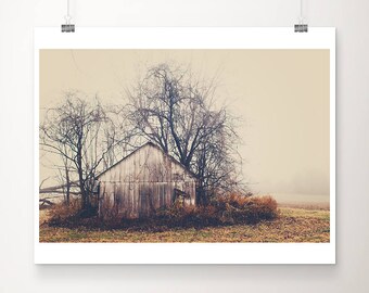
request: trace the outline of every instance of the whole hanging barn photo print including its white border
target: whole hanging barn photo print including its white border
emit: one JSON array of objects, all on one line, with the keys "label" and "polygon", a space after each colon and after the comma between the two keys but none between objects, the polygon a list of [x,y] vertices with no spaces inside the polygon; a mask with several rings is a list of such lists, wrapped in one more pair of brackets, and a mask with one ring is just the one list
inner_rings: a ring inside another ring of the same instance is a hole
[{"label": "whole hanging barn photo print including its white border", "polygon": [[35,29],[36,264],[335,264],[335,29]]}]

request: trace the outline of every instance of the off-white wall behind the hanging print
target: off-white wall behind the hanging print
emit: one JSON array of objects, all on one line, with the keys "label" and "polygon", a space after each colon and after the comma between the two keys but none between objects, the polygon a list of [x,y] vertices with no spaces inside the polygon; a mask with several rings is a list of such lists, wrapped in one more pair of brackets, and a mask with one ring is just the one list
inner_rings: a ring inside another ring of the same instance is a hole
[{"label": "off-white wall behind the hanging print", "polygon": [[[335,266],[35,266],[33,29],[66,0],[0,0],[0,292],[369,292],[367,0],[305,0],[336,27]],[[78,26],[292,26],[298,0],[71,0]]]}]

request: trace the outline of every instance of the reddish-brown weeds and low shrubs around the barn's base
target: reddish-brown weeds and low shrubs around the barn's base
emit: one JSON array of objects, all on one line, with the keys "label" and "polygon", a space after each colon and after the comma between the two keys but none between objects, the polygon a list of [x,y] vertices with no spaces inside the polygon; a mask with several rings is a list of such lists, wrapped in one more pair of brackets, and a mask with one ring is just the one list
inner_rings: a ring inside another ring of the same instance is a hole
[{"label": "reddish-brown weeds and low shrubs around the barn's base", "polygon": [[254,225],[278,217],[277,202],[271,196],[243,196],[229,194],[213,199],[206,206],[182,206],[174,204],[169,208],[156,211],[147,218],[101,219],[97,215],[86,217],[80,214],[78,201],[69,206],[60,204],[51,211],[48,222],[51,227],[90,229],[132,229],[162,231],[170,228],[203,228],[237,224]]}]

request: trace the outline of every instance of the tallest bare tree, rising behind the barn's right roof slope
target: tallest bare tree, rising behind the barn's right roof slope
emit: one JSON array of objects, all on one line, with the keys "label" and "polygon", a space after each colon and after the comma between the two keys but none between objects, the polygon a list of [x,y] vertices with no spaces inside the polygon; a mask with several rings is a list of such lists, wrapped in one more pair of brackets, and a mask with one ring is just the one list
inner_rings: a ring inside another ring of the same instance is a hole
[{"label": "tallest bare tree, rising behind the barn's right roof slope", "polygon": [[196,174],[200,203],[237,183],[234,117],[216,106],[215,90],[191,69],[160,64],[128,92],[133,130]]}]

